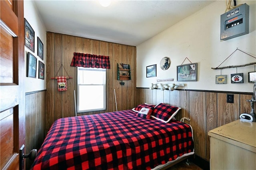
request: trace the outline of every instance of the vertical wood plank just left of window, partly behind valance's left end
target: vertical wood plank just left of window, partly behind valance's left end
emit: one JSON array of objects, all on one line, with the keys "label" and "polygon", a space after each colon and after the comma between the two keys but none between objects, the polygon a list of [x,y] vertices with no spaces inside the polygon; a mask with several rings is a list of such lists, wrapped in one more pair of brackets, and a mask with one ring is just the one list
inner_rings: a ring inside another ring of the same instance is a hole
[{"label": "vertical wood plank just left of window, partly behind valance's left end", "polygon": [[[73,59],[75,51],[75,37],[63,35],[62,36],[62,76],[74,77],[76,67],[71,67],[70,63]],[[75,89],[75,79],[67,80],[67,91],[62,91],[62,117],[72,117],[75,116],[75,106],[74,106],[74,89]]]}]

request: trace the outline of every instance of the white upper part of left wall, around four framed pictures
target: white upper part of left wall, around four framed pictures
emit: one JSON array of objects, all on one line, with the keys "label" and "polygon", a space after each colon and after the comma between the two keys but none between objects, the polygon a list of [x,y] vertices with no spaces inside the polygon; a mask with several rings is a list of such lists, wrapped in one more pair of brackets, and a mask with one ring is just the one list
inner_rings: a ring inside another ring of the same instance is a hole
[{"label": "white upper part of left wall, around four framed pictures", "polygon": [[[26,62],[28,52],[32,53],[37,58],[36,78],[26,77],[25,79],[25,92],[27,93],[46,89],[46,28],[40,17],[38,16],[34,1],[24,1],[24,18],[26,18],[26,20],[35,32],[34,52],[25,46],[25,68],[27,68]],[[39,37],[44,44],[43,60],[37,55],[37,37]],[[44,63],[44,79],[38,79],[38,61],[42,61],[42,63]]]}]

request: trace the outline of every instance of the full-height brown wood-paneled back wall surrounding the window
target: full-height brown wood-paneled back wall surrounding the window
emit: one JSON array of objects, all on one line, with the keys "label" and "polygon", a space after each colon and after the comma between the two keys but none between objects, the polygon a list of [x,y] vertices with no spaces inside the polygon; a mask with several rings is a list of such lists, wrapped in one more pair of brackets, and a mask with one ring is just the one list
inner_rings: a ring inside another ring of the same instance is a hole
[{"label": "full-height brown wood-paneled back wall surrounding the window", "polygon": [[[118,111],[135,107],[136,47],[47,32],[46,48],[46,130],[56,119],[75,116],[74,90],[77,92],[77,69],[70,67],[74,52],[110,57],[110,69],[107,69],[106,110],[78,113],[78,115],[116,111],[114,89]],[[124,81],[125,84],[122,86],[117,80],[117,63],[130,64],[131,67],[132,79]],[[73,79],[67,80],[67,91],[58,92],[57,81],[50,79],[55,76],[73,77]]]}]

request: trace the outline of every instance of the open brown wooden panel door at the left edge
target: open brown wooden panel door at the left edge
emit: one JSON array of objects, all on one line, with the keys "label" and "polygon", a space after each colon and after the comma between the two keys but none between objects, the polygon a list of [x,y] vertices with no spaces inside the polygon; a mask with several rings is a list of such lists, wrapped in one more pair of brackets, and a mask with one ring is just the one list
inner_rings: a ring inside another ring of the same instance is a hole
[{"label": "open brown wooden panel door at the left edge", "polygon": [[0,0],[0,169],[22,169],[25,144],[24,11],[22,0]]}]

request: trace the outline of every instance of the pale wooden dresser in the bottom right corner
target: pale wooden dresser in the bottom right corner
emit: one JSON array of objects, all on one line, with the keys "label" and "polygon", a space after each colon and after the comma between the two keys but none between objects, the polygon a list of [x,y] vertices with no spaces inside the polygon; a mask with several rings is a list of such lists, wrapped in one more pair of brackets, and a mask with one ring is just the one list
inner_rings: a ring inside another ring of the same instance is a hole
[{"label": "pale wooden dresser in the bottom right corner", "polygon": [[237,120],[208,135],[211,170],[256,170],[256,122]]}]

